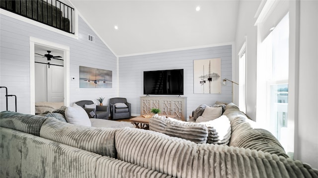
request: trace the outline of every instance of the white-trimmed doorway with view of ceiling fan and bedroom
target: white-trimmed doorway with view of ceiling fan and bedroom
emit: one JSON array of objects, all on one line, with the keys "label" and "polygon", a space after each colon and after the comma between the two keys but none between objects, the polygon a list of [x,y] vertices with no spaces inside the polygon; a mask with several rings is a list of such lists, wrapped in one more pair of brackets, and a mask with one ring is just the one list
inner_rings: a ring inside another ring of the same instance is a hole
[{"label": "white-trimmed doorway with view of ceiling fan and bedroom", "polygon": [[[48,60],[48,51],[61,58]],[[35,102],[70,105],[69,58],[69,47],[30,38],[30,114],[35,114]]]}]

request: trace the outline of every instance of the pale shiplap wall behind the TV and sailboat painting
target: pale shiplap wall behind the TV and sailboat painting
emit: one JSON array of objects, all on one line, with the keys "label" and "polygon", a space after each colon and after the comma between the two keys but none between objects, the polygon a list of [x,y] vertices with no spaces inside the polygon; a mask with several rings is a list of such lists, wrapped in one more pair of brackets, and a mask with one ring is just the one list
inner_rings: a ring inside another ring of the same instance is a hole
[{"label": "pale shiplap wall behind the TV and sailboat painting", "polygon": [[200,104],[213,105],[216,101],[231,102],[232,85],[230,83],[222,86],[221,94],[193,93],[193,60],[214,58],[221,58],[221,78],[232,79],[232,45],[120,57],[119,95],[126,97],[132,104],[132,114],[140,115],[140,96],[145,96],[143,71],[183,68],[183,96],[187,97],[187,118]]}]

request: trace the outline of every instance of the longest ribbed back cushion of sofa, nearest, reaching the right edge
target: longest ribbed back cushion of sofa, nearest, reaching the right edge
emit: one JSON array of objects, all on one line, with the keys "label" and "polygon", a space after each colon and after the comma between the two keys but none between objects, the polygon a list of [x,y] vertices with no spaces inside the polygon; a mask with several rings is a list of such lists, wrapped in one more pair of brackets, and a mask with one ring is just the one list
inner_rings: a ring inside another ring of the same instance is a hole
[{"label": "longest ribbed back cushion of sofa, nearest, reaching the right edge", "polygon": [[262,151],[193,142],[136,128],[115,136],[118,159],[177,178],[317,178],[300,161]]}]

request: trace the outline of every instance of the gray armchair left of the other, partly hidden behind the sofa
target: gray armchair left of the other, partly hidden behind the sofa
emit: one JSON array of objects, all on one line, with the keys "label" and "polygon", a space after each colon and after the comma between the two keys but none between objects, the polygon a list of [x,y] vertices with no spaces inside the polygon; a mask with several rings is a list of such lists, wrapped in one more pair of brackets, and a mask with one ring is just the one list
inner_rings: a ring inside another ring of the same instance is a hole
[{"label": "gray armchair left of the other, partly hidden behind the sofa", "polygon": [[85,108],[85,105],[94,104],[94,102],[89,100],[78,101],[76,104],[86,111],[89,118],[108,119],[109,117],[108,106],[96,105],[96,108]]}]

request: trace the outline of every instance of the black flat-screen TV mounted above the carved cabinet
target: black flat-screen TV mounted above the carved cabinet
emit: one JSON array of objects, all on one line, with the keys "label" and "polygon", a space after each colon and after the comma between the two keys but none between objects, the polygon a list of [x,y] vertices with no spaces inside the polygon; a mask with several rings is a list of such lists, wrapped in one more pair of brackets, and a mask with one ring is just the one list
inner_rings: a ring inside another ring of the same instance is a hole
[{"label": "black flat-screen TV mounted above the carved cabinet", "polygon": [[145,95],[183,95],[183,69],[144,71]]}]

